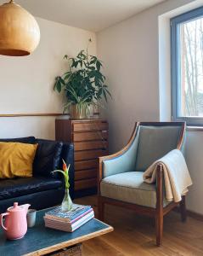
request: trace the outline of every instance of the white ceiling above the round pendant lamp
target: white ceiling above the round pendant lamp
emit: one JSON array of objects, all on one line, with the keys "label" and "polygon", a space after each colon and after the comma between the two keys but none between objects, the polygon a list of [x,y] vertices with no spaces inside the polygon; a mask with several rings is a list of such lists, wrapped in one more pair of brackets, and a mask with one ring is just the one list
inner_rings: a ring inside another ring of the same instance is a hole
[{"label": "white ceiling above the round pendant lamp", "polygon": [[[166,0],[15,0],[32,15],[98,32]],[[0,0],[0,3],[8,0]]]}]

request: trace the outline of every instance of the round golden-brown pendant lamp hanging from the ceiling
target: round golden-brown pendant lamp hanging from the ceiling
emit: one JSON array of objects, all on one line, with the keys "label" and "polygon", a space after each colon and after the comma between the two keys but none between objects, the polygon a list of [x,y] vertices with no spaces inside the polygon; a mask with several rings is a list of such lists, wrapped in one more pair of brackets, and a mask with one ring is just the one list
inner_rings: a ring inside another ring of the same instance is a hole
[{"label": "round golden-brown pendant lamp hanging from the ceiling", "polygon": [[30,13],[13,0],[0,6],[0,55],[30,55],[39,40],[39,26]]}]

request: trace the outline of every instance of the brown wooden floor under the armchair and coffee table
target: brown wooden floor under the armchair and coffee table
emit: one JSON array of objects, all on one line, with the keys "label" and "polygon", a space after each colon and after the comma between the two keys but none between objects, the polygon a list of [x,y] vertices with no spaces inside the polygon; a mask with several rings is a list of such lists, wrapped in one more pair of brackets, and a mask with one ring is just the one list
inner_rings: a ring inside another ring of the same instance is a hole
[{"label": "brown wooden floor under the armchair and coffee table", "polygon": [[[97,214],[95,196],[83,197],[77,203],[90,204]],[[203,256],[203,222],[188,218],[180,221],[177,212],[164,219],[163,246],[155,246],[155,222],[120,207],[107,206],[105,222],[114,231],[83,243],[84,256]]]}]

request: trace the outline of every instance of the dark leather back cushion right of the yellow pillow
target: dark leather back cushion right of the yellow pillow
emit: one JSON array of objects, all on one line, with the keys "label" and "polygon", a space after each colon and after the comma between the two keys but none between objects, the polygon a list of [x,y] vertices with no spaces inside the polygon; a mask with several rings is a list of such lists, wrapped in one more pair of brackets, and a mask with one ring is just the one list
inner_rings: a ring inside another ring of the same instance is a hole
[{"label": "dark leather back cushion right of the yellow pillow", "polygon": [[59,168],[63,143],[37,140],[38,148],[34,160],[34,175],[50,177],[50,172]]}]

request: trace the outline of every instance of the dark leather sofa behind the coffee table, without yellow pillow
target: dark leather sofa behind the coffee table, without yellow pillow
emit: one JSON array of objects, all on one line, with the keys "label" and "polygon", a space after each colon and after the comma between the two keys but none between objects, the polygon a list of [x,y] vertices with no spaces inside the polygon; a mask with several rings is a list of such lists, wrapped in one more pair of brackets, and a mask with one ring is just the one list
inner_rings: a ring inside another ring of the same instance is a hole
[{"label": "dark leather sofa behind the coffee table, without yellow pillow", "polygon": [[33,177],[16,177],[0,180],[0,213],[14,204],[29,203],[37,210],[53,207],[63,200],[64,179],[51,172],[62,168],[62,159],[70,164],[70,196],[74,193],[73,145],[35,137],[0,139],[0,142],[38,143],[33,163]]}]

